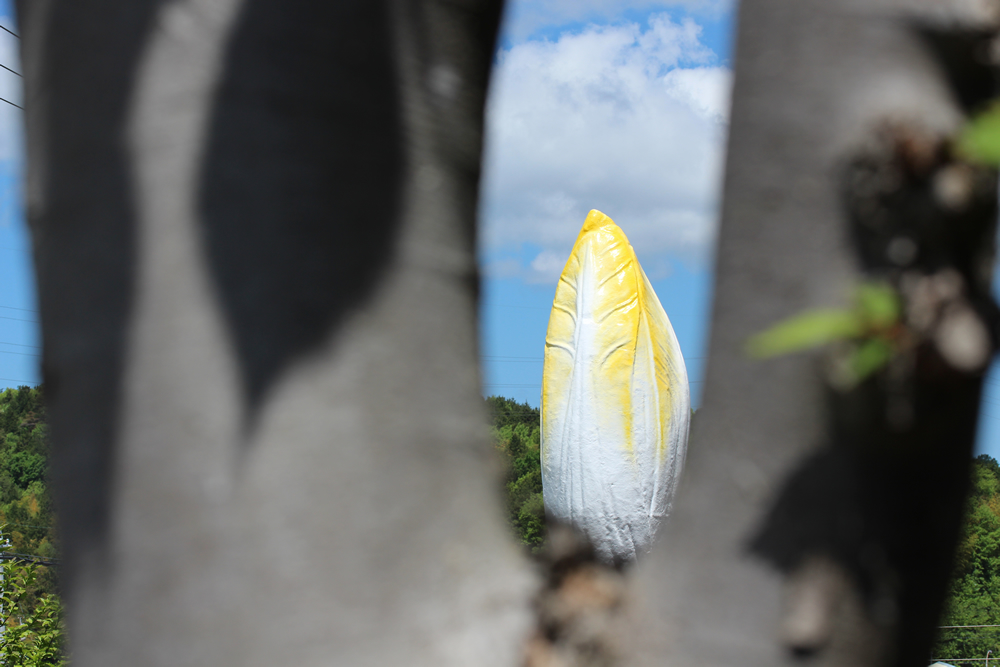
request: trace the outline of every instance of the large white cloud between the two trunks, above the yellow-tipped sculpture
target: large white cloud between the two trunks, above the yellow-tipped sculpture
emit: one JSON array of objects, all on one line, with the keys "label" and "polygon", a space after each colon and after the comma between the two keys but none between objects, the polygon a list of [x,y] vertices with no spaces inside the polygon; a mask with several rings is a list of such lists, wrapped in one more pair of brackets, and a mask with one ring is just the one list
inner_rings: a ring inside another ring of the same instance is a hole
[{"label": "large white cloud between the two trunks, above the yellow-tipped sculpture", "polygon": [[554,279],[591,208],[619,223],[644,265],[704,256],[730,86],[714,60],[696,23],[665,14],[502,52],[487,113],[487,274],[511,275],[491,256],[531,244],[541,251],[521,276]]}]

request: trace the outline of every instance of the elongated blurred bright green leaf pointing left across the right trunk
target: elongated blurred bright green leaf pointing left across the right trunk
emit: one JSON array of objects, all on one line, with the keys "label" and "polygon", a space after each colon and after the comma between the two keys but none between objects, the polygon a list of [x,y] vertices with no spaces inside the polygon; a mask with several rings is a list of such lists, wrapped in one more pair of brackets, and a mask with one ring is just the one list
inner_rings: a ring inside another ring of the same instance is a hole
[{"label": "elongated blurred bright green leaf pointing left across the right trunk", "polygon": [[854,338],[863,331],[861,318],[853,312],[811,310],[779,322],[751,338],[747,343],[747,353],[756,359],[767,359]]}]

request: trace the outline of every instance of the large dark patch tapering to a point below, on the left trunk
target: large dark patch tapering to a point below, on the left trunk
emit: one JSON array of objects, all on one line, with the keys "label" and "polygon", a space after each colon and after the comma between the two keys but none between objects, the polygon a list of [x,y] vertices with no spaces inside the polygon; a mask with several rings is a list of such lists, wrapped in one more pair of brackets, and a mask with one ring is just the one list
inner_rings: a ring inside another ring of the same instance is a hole
[{"label": "large dark patch tapering to a point below, on the left trunk", "polygon": [[386,3],[366,0],[248,0],[235,24],[200,210],[251,415],[393,256],[404,137],[390,29]]}]

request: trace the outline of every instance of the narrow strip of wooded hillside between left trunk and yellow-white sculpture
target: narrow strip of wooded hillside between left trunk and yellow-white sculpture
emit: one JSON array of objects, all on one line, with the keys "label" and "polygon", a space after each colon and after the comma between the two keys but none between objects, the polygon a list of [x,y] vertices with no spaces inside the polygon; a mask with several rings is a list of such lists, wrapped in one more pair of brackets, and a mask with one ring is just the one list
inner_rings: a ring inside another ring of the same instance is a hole
[{"label": "narrow strip of wooded hillside between left trunk and yellow-white sculpture", "polygon": [[502,396],[486,399],[490,436],[504,465],[504,491],[511,526],[533,552],[545,539],[542,503],[541,436],[538,408]]}]

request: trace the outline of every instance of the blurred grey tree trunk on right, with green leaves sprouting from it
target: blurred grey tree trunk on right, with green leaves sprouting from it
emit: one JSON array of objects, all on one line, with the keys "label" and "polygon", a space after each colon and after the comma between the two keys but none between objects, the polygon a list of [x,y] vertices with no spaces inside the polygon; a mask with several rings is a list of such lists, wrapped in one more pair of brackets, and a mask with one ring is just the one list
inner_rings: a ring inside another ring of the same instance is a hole
[{"label": "blurred grey tree trunk on right, with green leaves sprouting from it", "polygon": [[[996,176],[956,166],[948,141],[993,94],[997,9],[745,0],[739,12],[704,399],[622,650],[642,665],[813,653],[925,665],[995,321]],[[976,313],[962,335],[979,356],[964,370],[943,328],[912,323],[944,308],[945,327],[951,306],[906,291],[955,272],[954,307]],[[847,306],[866,280],[904,293],[916,341],[873,379],[837,391],[826,353],[747,355],[754,334]]]}]

